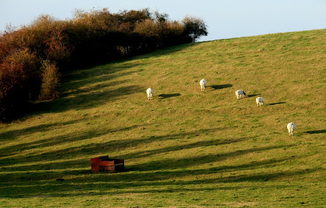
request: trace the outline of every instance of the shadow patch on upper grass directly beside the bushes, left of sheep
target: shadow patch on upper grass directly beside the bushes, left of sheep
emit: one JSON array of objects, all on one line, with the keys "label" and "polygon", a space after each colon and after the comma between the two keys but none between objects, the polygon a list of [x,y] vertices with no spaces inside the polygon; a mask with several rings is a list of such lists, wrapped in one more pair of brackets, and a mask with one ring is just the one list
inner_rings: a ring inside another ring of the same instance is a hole
[{"label": "shadow patch on upper grass directly beside the bushes, left of sheep", "polygon": [[[33,104],[28,116],[69,111],[70,109],[89,109],[105,104],[109,100],[118,99],[123,95],[140,92],[142,90],[140,86],[118,87],[118,84],[127,81],[116,82],[118,77],[133,74],[135,71],[128,69],[135,66],[139,66],[139,64],[119,62],[118,65],[112,63],[66,72],[62,76],[64,81],[61,97],[53,101]],[[114,89],[109,88],[112,86],[114,86]]]}]

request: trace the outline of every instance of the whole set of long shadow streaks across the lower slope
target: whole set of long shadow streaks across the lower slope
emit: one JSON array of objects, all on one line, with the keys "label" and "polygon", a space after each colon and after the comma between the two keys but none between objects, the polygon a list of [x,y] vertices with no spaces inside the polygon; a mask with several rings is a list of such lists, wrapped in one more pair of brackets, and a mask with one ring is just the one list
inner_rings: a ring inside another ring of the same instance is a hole
[{"label": "whole set of long shadow streaks across the lower slope", "polygon": [[[129,126],[126,128],[111,129],[114,131],[129,131],[140,126]],[[47,128],[47,126],[45,126]],[[142,193],[142,192],[167,192],[176,189],[177,192],[189,192],[200,190],[212,190],[212,187],[205,187],[212,183],[226,182],[247,182],[247,181],[266,181],[274,180],[282,177],[293,177],[296,175],[304,175],[313,173],[315,170],[274,170],[274,173],[247,173],[232,174],[237,170],[255,170],[258,168],[274,167],[279,163],[285,163],[288,160],[293,160],[291,156],[282,158],[272,158],[251,162],[244,162],[239,165],[222,165],[208,166],[208,168],[198,168],[193,170],[193,167],[200,167],[204,164],[220,162],[230,158],[242,158],[245,155],[273,150],[278,148],[288,148],[293,145],[269,145],[264,147],[243,148],[241,150],[230,150],[226,153],[193,155],[188,158],[159,158],[159,160],[143,163],[142,158],[151,157],[159,153],[170,153],[173,151],[184,151],[191,148],[205,146],[222,146],[230,143],[239,143],[251,138],[216,138],[208,141],[197,141],[191,143],[191,136],[200,136],[201,133],[223,131],[225,128],[209,128],[201,131],[189,131],[183,133],[167,134],[164,136],[147,136],[147,138],[135,138],[133,140],[116,140],[106,143],[91,143],[84,146],[66,148],[62,150],[50,150],[44,153],[40,149],[39,153],[33,155],[23,155],[11,157],[10,160],[2,158],[0,163],[3,164],[1,173],[1,196],[8,198],[21,197],[56,197],[56,196],[80,196],[80,195],[106,195],[113,193],[115,195],[125,193]],[[41,141],[43,145],[52,146],[56,143],[64,143],[77,141],[80,139],[93,138],[96,136],[108,133],[108,129],[101,132],[89,133],[74,133],[66,136],[57,136],[49,140]],[[91,174],[90,158],[85,160],[85,155],[96,155],[96,153],[110,153],[116,150],[126,150],[129,147],[150,145],[152,142],[177,140],[178,145],[164,148],[157,147],[155,150],[136,150],[133,153],[125,155],[117,155],[116,158],[125,159],[125,173],[103,173]],[[37,143],[26,144],[26,148],[38,148]],[[11,146],[9,149],[2,149],[5,155],[9,153],[15,154],[12,150],[18,153],[22,146]],[[82,158],[80,158],[82,157]],[[139,159],[137,165],[128,165],[129,159]],[[297,158],[296,158],[297,159]],[[45,163],[42,163],[44,160]],[[31,163],[31,164],[28,164]],[[35,164],[38,163],[38,164]],[[211,168],[210,168],[211,167]],[[73,170],[72,170],[73,169]],[[75,170],[74,170],[75,169]],[[80,169],[80,170],[78,170]],[[227,176],[214,177],[203,180],[196,180],[196,177],[203,178],[204,175],[226,174]],[[182,177],[194,177],[189,181],[175,182],[173,179]],[[64,181],[56,181],[57,178],[64,178]],[[70,179],[69,179],[70,178]],[[164,180],[164,181],[163,181]],[[94,182],[96,185],[94,185]],[[69,184],[67,186],[67,184]],[[187,188],[180,189],[179,185],[187,185]],[[193,185],[203,185],[193,187]],[[236,185],[235,185],[236,186]],[[108,189],[109,187],[109,189]],[[147,190],[150,187],[150,190]],[[154,189],[152,188],[154,187]],[[237,187],[215,187],[213,190],[237,189]],[[74,190],[83,190],[76,192]],[[96,192],[94,192],[96,190]]]}]

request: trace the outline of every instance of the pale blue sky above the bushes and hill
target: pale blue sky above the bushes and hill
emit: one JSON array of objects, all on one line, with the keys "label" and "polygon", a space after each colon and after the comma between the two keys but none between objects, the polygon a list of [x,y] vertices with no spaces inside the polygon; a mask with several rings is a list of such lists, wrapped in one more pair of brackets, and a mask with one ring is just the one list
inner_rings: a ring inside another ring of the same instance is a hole
[{"label": "pale blue sky above the bushes and hill", "polygon": [[31,23],[40,14],[72,18],[75,9],[144,9],[172,20],[202,18],[208,36],[199,41],[326,28],[326,0],[0,0],[0,31]]}]

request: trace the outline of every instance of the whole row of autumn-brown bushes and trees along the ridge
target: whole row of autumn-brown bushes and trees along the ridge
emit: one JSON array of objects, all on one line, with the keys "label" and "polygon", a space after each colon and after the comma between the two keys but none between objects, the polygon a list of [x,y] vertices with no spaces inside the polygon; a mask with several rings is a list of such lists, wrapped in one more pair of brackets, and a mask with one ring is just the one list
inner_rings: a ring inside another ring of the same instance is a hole
[{"label": "whole row of autumn-brown bushes and trees along the ridge", "polygon": [[0,34],[0,120],[36,99],[57,98],[60,72],[147,53],[207,35],[203,20],[171,21],[166,13],[75,11],[69,20],[43,15]]}]

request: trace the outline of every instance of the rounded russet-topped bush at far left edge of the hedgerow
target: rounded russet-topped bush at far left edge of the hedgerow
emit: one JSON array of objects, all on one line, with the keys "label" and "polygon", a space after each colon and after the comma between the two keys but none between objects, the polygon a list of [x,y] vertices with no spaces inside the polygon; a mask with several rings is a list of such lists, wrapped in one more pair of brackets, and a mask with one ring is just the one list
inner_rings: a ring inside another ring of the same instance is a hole
[{"label": "rounded russet-topped bush at far left edge of the hedgerow", "polygon": [[0,64],[0,118],[11,119],[38,97],[39,62],[28,49],[13,50]]}]

